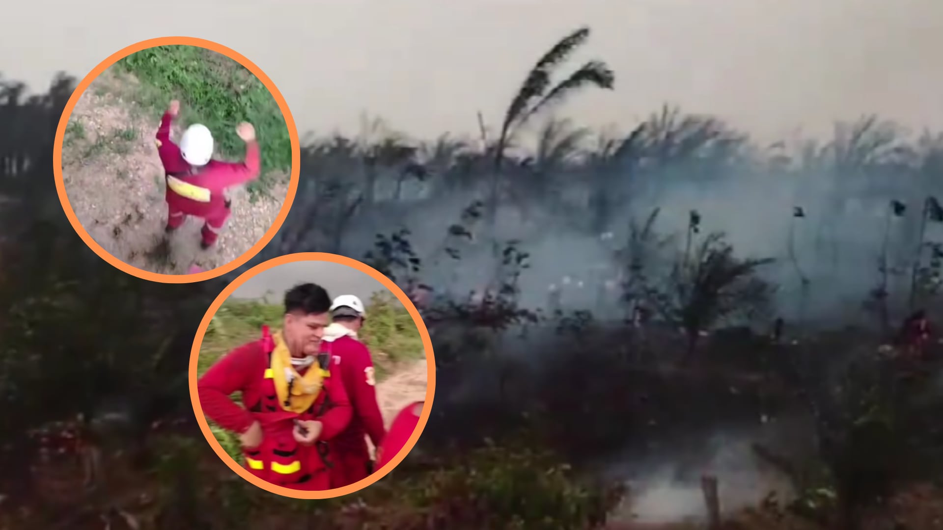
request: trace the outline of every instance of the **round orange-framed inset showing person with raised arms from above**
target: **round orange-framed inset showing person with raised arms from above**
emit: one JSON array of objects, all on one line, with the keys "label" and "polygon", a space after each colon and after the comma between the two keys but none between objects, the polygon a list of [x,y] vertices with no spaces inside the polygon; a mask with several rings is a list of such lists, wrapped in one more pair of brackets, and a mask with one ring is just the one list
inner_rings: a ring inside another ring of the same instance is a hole
[{"label": "round orange-framed inset showing person with raised arms from above", "polygon": [[95,67],[62,113],[54,157],[79,236],[124,272],[167,283],[254,257],[299,174],[298,132],[271,79],[191,38],[139,42]]}]

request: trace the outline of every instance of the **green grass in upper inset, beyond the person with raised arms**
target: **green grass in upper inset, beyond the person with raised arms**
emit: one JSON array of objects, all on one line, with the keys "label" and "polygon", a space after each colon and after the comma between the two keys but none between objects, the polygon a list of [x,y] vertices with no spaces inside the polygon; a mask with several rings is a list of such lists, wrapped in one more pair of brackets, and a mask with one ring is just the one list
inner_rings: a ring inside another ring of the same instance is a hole
[{"label": "green grass in upper inset, beyond the person with raised arms", "polygon": [[170,45],[141,50],[115,66],[140,81],[135,101],[150,108],[153,116],[159,117],[171,100],[180,100],[180,123],[207,125],[225,158],[245,156],[236,125],[255,125],[263,176],[249,186],[254,195],[271,188],[272,172],[290,173],[291,141],[285,117],[265,85],[235,60],[197,46]]}]

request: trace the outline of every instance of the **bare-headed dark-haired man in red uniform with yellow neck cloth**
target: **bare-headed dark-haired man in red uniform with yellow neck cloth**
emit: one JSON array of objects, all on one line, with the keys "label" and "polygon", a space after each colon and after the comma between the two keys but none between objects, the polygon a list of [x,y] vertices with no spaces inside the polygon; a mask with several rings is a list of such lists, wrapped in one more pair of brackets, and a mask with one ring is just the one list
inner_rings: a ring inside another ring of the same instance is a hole
[{"label": "bare-headed dark-haired man in red uniform with yellow neck cloth", "polygon": [[[197,382],[208,418],[238,433],[245,467],[292,489],[331,489],[327,441],[350,422],[351,406],[323,347],[331,300],[303,284],[285,294],[283,331],[236,348]],[[239,406],[229,397],[240,392]]]}]

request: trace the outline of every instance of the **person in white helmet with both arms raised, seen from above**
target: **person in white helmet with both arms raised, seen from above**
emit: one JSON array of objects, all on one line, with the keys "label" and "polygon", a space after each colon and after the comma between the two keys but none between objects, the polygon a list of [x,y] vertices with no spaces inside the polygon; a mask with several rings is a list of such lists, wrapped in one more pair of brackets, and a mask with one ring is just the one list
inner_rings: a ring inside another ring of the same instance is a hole
[{"label": "person in white helmet with both arms raised, seen from above", "polygon": [[260,157],[256,129],[240,124],[236,134],[245,141],[245,161],[213,160],[213,135],[206,125],[192,124],[183,133],[180,144],[171,141],[171,125],[180,111],[174,100],[157,129],[157,154],[164,165],[167,192],[167,232],[172,232],[188,215],[204,220],[200,246],[209,248],[219,238],[229,217],[230,202],[225,190],[258,176]]}]

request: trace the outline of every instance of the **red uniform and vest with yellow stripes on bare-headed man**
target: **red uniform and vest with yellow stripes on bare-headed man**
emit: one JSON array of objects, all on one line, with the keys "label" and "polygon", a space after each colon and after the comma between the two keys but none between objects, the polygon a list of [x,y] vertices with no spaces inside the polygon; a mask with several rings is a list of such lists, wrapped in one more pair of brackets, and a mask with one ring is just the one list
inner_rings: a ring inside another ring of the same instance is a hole
[{"label": "red uniform and vest with yellow stripes on bare-headed man", "polygon": [[[296,414],[278,402],[269,370],[272,351],[272,341],[263,337],[223,356],[197,382],[200,405],[207,418],[232,432],[242,433],[255,421],[261,424],[262,444],[252,451],[243,450],[245,467],[252,474],[285,488],[331,489],[328,469],[334,462],[326,441],[337,436],[351,419],[339,373],[325,359],[323,365],[329,366],[330,376],[324,378],[321,394],[306,412]],[[233,392],[241,393],[245,407],[233,403],[229,397]],[[303,446],[294,440],[295,419],[323,423],[315,445]]]}]

